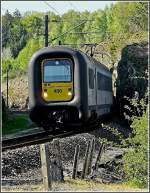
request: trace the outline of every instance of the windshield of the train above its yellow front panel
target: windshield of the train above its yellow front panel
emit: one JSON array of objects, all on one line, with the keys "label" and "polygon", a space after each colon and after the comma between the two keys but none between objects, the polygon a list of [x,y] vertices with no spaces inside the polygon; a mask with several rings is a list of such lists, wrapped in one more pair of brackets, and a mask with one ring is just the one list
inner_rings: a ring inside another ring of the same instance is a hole
[{"label": "windshield of the train above its yellow front panel", "polygon": [[44,82],[71,82],[71,66],[69,59],[52,59],[44,62]]}]

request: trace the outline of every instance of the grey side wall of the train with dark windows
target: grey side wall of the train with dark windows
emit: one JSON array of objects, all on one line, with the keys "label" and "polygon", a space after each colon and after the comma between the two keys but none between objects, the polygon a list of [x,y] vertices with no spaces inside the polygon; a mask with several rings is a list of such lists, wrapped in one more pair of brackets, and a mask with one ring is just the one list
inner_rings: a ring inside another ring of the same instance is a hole
[{"label": "grey side wall of the train with dark windows", "polygon": [[86,57],[88,118],[109,114],[113,105],[112,74],[100,62]]}]

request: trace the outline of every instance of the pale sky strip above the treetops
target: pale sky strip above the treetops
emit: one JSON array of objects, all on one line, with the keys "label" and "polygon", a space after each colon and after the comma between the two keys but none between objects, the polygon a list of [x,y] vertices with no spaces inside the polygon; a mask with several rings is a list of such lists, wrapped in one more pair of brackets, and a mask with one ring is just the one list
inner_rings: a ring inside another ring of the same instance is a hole
[{"label": "pale sky strip above the treetops", "polygon": [[[48,2],[48,6],[45,2]],[[1,1],[1,12],[2,15],[8,9],[10,13],[18,9],[22,14],[26,11],[40,11],[47,12],[53,11],[56,14],[62,15],[69,9],[75,11],[88,10],[93,12],[97,9],[104,9],[105,6],[110,6],[112,3],[117,1]]]}]

